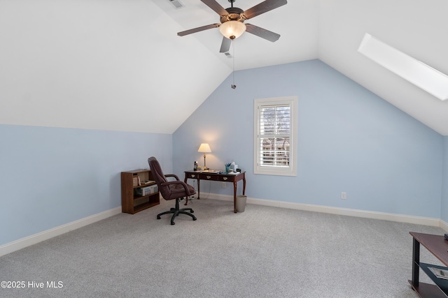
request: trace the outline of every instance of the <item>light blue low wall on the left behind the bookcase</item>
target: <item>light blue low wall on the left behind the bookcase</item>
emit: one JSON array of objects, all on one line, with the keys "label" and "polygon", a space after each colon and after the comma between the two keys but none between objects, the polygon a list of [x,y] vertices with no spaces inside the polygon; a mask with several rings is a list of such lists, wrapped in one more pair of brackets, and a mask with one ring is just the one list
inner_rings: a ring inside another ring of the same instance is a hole
[{"label": "light blue low wall on the left behind the bookcase", "polygon": [[0,245],[121,206],[120,172],[157,156],[172,172],[172,135],[0,125]]}]

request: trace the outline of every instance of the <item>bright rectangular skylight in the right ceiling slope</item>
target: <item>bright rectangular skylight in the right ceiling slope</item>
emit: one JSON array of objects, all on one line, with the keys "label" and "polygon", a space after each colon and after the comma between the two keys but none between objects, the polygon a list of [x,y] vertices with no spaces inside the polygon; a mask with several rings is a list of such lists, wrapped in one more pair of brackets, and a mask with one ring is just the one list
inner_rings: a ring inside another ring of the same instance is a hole
[{"label": "bright rectangular skylight in the right ceiling slope", "polygon": [[364,34],[358,52],[440,100],[448,99],[448,76],[400,52],[369,33]]}]

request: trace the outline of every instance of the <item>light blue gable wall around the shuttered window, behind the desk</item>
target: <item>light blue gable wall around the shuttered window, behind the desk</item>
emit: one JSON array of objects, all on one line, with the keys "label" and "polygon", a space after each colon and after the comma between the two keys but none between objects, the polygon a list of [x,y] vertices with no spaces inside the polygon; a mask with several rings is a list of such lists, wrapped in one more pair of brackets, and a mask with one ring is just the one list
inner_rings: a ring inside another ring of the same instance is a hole
[{"label": "light blue gable wall around the shuttered window, behind the desk", "polygon": [[[237,89],[230,84],[232,75],[174,133],[176,174],[202,165],[197,149],[209,142],[207,166],[235,161],[250,198],[440,218],[442,135],[319,60],[237,71]],[[253,100],[291,95],[299,100],[297,177],[255,175]],[[219,183],[201,191],[209,189],[232,195]]]}]

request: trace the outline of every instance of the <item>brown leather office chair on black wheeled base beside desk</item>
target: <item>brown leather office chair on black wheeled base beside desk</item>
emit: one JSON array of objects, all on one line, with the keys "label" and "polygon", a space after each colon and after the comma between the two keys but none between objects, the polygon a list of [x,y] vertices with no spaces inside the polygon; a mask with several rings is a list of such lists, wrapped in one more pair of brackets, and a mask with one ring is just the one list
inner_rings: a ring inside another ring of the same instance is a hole
[{"label": "brown leather office chair on black wheeled base beside desk", "polygon": [[[179,209],[179,200],[194,195],[196,193],[195,188],[190,186],[183,181],[179,180],[175,174],[163,174],[162,168],[160,167],[157,159],[152,156],[148,158],[149,167],[151,167],[151,174],[153,174],[155,183],[159,188],[159,192],[165,200],[176,200],[176,207],[170,209],[169,211],[162,212],[158,214],[157,219],[160,219],[161,215],[173,214],[171,218],[171,224],[174,225],[174,218],[179,214],[187,214],[193,217],[193,221],[196,221],[196,217],[192,214],[194,211],[191,208]],[[167,177],[174,177],[176,181],[168,181]],[[187,212],[190,210],[190,212]]]}]

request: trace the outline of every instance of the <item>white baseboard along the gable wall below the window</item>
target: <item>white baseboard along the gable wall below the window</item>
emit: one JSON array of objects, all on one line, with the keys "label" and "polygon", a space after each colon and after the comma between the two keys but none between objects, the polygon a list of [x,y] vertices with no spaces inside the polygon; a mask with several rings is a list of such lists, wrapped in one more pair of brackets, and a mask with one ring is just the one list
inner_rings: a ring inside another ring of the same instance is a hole
[{"label": "white baseboard along the gable wall below the window", "polygon": [[[200,198],[209,198],[211,200],[225,200],[225,201],[233,201],[233,195],[219,195],[216,193],[201,193]],[[339,207],[327,207],[313,204],[302,204],[302,203],[293,203],[293,202],[281,202],[274,200],[262,200],[256,198],[247,198],[246,202],[248,204],[258,204],[263,206],[270,207],[279,207],[279,208],[287,208],[287,209],[297,209],[304,211],[314,211],[314,212],[322,212],[328,214],[337,214],[344,216],[356,216],[362,218],[372,218],[372,219],[380,219],[384,221],[396,221],[399,223],[414,223],[416,225],[430,225],[433,227],[442,228],[445,231],[448,231],[448,223],[445,223],[439,218],[428,218],[421,216],[409,216],[402,214],[390,214],[384,212],[375,212],[375,211],[365,211],[365,210],[356,210],[356,209],[346,209]]]}]

